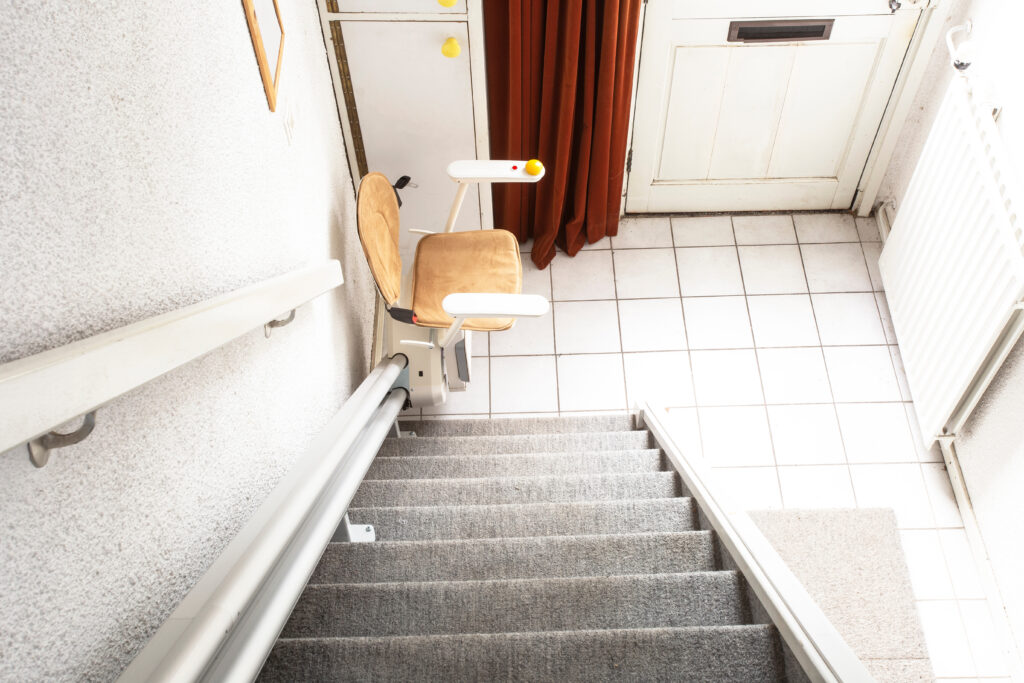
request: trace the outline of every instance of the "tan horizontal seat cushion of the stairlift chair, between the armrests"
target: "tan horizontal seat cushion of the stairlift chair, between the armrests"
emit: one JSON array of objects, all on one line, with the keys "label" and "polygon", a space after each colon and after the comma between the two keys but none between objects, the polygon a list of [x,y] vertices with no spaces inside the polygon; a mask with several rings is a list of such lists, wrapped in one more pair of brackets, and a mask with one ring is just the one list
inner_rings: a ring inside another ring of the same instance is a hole
[{"label": "tan horizontal seat cushion of the stairlift chair, between the armrests", "polygon": [[[429,234],[416,249],[413,312],[417,325],[446,328],[453,318],[441,302],[449,294],[520,294],[522,263],[519,243],[508,230],[470,230]],[[464,330],[508,330],[515,318],[474,318]]]}]

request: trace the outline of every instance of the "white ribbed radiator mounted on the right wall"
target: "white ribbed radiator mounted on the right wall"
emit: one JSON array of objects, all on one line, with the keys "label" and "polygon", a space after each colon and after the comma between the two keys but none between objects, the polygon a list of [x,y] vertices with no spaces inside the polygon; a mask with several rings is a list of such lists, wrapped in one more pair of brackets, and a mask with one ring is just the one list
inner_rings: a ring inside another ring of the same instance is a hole
[{"label": "white ribbed radiator mounted on the right wall", "polygon": [[1024,329],[1018,185],[953,79],[879,262],[922,435],[954,434]]}]

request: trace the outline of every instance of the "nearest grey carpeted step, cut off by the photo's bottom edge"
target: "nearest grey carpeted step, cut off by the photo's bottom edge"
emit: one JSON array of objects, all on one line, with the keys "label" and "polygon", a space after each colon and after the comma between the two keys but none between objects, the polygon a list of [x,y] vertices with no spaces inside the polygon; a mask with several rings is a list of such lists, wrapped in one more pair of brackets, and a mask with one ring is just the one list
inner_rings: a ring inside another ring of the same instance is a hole
[{"label": "nearest grey carpeted step, cut off by the photo's bottom edge", "polygon": [[283,639],[259,680],[769,683],[784,674],[777,632],[757,625]]}]

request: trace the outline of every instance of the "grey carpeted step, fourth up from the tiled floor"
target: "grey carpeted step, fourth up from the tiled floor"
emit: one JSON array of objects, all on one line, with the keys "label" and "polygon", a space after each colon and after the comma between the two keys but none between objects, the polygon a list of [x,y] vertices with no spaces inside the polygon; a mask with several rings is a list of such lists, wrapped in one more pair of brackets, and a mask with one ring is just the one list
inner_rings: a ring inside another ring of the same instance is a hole
[{"label": "grey carpeted step, fourth up from the tiled floor", "polygon": [[423,505],[505,505],[671,498],[680,494],[674,472],[573,474],[567,476],[481,479],[366,480],[355,492],[355,507]]}]

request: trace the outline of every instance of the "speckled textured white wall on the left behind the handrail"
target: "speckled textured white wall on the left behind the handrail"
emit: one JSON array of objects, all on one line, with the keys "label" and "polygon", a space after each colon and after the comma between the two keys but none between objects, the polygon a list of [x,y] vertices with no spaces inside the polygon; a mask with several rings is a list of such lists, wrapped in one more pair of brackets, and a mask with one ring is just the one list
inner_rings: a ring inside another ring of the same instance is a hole
[{"label": "speckled textured white wall on the left behind the handrail", "polygon": [[116,676],[368,370],[316,7],[281,10],[272,114],[239,0],[0,0],[0,362],[327,258],[346,281],[44,469],[0,454],[0,680]]}]

